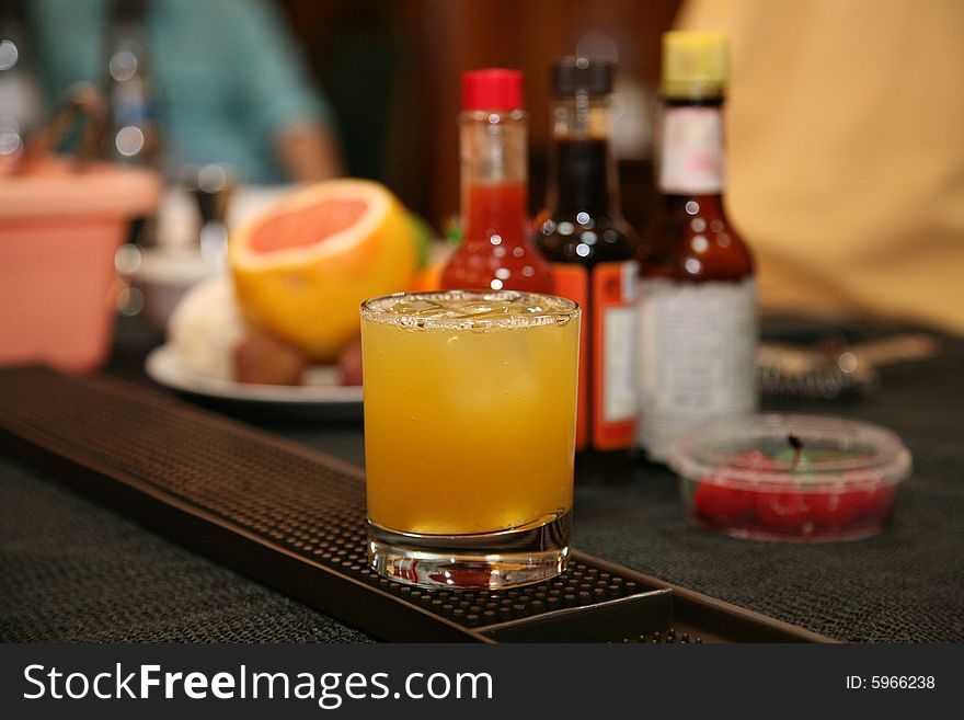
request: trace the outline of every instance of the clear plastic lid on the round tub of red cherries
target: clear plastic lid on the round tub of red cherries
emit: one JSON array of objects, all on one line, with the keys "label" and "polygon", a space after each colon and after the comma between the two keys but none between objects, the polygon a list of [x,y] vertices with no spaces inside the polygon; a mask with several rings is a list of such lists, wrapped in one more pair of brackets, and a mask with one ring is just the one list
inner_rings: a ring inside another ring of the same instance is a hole
[{"label": "clear plastic lid on the round tub of red cherries", "polygon": [[896,484],[910,452],[895,433],[824,415],[758,414],[685,432],[669,449],[680,476],[753,485]]}]

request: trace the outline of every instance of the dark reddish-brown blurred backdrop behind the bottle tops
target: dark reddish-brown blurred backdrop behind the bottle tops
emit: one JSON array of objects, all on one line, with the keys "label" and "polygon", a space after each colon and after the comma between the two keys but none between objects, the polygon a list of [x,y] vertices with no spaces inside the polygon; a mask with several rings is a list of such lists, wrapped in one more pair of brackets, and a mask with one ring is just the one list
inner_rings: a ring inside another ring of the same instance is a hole
[{"label": "dark reddish-brown blurred backdrop behind the bottle tops", "polygon": [[279,0],[336,117],[349,174],[378,179],[436,227],[458,212],[460,76],[481,67],[526,76],[530,199],[544,199],[549,68],[564,55],[616,61],[623,207],[653,202],[651,122],[659,36],[679,0]]}]

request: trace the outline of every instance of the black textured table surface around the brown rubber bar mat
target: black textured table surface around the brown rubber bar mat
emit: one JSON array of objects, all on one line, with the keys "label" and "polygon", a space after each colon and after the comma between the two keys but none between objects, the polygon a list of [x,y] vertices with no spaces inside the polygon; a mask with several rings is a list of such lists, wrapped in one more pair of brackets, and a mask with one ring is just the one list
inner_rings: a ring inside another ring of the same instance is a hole
[{"label": "black textured table surface around the brown rubber bar mat", "polygon": [[[122,319],[105,372],[150,385],[142,364],[157,342],[140,320]],[[765,405],[867,420],[902,436],[914,472],[884,534],[835,544],[712,534],[686,521],[669,470],[639,461],[607,482],[576,484],[574,546],[839,640],[964,640],[964,341],[941,343],[933,359],[884,368],[868,397]],[[360,422],[240,419],[364,464]],[[371,640],[2,455],[0,579],[8,642]]]}]

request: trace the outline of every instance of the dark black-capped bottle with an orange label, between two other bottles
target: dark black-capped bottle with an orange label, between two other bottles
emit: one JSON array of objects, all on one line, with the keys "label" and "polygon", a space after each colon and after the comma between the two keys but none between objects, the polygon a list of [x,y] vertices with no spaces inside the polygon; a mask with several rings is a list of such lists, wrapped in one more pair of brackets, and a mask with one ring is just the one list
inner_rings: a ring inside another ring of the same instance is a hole
[{"label": "dark black-capped bottle with an orange label, between two other bottles", "polygon": [[537,236],[556,295],[583,307],[577,466],[629,458],[635,437],[635,233],[622,219],[610,147],[613,68],[584,57],[552,67],[547,219]]}]

